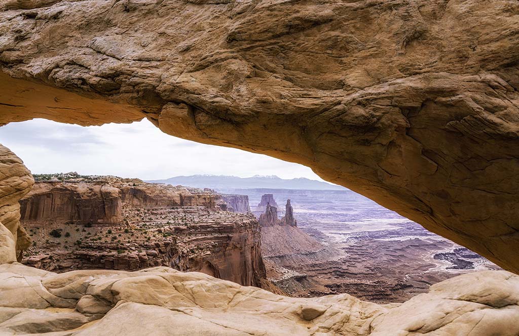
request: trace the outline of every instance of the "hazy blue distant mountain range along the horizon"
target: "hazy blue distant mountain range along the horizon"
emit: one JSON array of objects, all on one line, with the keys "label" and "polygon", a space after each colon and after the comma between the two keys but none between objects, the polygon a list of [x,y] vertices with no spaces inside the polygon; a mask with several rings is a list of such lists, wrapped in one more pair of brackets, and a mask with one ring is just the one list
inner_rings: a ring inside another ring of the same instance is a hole
[{"label": "hazy blue distant mountain range along the horizon", "polygon": [[347,190],[344,187],[304,177],[284,179],[276,175],[237,177],[227,175],[175,176],[167,179],[148,180],[152,183],[167,183],[195,188],[229,189],[305,189],[305,190]]}]

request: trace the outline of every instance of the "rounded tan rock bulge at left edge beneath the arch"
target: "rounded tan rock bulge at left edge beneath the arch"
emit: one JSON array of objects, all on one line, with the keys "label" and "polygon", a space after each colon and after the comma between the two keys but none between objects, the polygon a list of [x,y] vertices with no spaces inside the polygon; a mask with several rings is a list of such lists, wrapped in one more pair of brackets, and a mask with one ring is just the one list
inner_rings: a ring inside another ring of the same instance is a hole
[{"label": "rounded tan rock bulge at left edge beneath the arch", "polygon": [[13,152],[0,144],[0,264],[21,260],[31,240],[20,225],[18,201],[31,190],[31,172]]}]

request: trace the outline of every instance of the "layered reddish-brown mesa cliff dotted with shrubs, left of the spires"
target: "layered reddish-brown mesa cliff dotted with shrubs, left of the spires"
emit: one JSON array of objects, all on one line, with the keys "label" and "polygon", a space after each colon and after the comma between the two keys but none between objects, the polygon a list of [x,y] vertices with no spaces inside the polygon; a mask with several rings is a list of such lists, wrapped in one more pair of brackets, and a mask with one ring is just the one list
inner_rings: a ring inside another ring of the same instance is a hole
[{"label": "layered reddish-brown mesa cliff dotted with shrubs, left of the spires", "polygon": [[265,285],[256,218],[221,202],[210,190],[134,179],[36,182],[20,201],[33,238],[24,263],[55,272],[170,266]]}]

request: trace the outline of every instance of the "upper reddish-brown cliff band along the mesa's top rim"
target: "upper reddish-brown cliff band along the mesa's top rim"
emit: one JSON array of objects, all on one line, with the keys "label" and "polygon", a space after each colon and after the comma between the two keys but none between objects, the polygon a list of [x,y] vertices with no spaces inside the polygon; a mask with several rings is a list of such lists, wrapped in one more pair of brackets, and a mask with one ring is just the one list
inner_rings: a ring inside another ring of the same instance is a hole
[{"label": "upper reddish-brown cliff band along the mesa's top rim", "polygon": [[37,182],[20,204],[25,221],[114,224],[122,223],[123,205],[216,208],[218,202],[214,192],[196,188],[103,177],[94,182]]}]

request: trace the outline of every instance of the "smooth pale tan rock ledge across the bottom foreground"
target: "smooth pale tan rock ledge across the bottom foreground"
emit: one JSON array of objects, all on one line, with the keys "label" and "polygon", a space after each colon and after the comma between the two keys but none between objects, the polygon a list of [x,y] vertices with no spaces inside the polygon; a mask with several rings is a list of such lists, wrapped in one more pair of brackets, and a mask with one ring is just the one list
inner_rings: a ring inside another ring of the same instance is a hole
[{"label": "smooth pale tan rock ledge across the bottom foreground", "polygon": [[166,267],[55,274],[5,264],[0,266],[0,290],[2,334],[513,336],[519,332],[519,278],[505,271],[459,276],[401,305],[385,306],[348,294],[288,298]]}]

